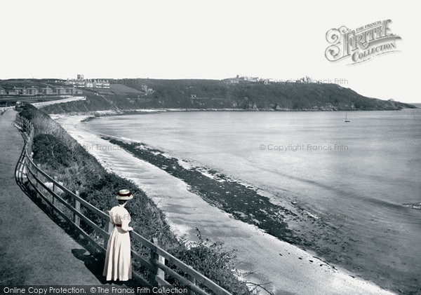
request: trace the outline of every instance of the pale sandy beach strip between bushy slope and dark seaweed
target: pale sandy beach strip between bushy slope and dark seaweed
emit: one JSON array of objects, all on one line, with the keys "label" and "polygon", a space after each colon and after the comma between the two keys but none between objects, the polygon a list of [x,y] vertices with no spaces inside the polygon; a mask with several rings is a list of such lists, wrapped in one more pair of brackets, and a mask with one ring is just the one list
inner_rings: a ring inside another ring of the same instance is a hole
[{"label": "pale sandy beach strip between bushy slope and dark seaweed", "polygon": [[393,294],[206,203],[185,182],[89,132],[81,123],[87,116],[52,117],[107,170],[135,181],[166,212],[173,231],[196,240],[199,228],[210,241],[237,249],[236,267],[253,272],[245,280],[270,282],[265,287],[274,294]]}]

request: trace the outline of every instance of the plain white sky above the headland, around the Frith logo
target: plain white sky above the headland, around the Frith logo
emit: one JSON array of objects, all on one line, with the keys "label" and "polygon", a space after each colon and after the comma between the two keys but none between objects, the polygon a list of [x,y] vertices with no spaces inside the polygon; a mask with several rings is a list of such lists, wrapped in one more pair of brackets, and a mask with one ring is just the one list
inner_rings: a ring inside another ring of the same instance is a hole
[{"label": "plain white sky above the headland, around the Frith logo", "polygon": [[[1,1],[0,79],[309,76],[421,103],[416,1]],[[330,62],[329,29],[381,20],[395,53]]]}]

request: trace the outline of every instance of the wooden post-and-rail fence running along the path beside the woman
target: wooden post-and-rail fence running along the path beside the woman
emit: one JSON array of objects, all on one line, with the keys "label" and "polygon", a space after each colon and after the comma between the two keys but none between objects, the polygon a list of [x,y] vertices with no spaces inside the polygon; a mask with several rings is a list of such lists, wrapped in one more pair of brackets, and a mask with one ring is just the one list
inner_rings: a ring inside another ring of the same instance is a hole
[{"label": "wooden post-and-rail fence running along the path beside the woman", "polygon": [[[72,192],[63,186],[57,177],[51,177],[39,165],[35,165],[32,160],[34,126],[27,118],[22,116],[16,117],[15,124],[25,139],[25,147],[22,150],[22,155],[15,171],[18,182],[20,181],[30,186],[36,192],[36,195],[41,197],[49,207],[72,224],[83,237],[91,241],[99,252],[105,254],[109,235],[113,229],[113,225],[109,222],[109,215],[83,200],[77,191]],[[104,225],[101,226],[98,222],[89,218],[87,212],[105,221]],[[81,226],[81,221],[83,221],[83,226]],[[90,228],[91,231],[101,235],[103,242],[98,242],[98,239],[95,239],[92,233],[87,233],[86,228]],[[227,290],[209,280],[208,277],[205,277],[191,266],[159,247],[156,239],[149,241],[135,231],[131,231],[131,238],[140,242],[142,247],[149,249],[149,258],[145,258],[145,255],[136,252],[133,247],[131,251],[134,261],[140,263],[142,268],[145,268],[149,273],[149,279],[147,279],[145,275],[133,270],[133,277],[142,286],[172,287],[170,282],[167,281],[168,278],[171,278],[173,285],[187,287],[190,290],[190,294],[230,294]]]}]

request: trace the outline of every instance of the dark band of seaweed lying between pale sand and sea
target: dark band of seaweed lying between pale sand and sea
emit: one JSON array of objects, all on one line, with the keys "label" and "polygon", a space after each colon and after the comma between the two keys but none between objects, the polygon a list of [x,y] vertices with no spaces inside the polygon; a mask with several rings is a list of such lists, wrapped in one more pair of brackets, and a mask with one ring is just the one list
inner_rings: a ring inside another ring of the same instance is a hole
[{"label": "dark band of seaweed lying between pale sand and sea", "polygon": [[208,177],[200,167],[186,169],[177,158],[163,155],[158,149],[151,149],[137,142],[122,142],[118,139],[102,137],[112,144],[121,146],[134,156],[145,160],[169,174],[182,179],[189,190],[208,203],[232,214],[235,219],[258,226],[263,231],[286,242],[300,245],[302,240],[288,228],[286,215],[295,216],[286,208],[271,203],[269,198],[260,195],[253,187],[229,179],[215,170],[208,170],[214,177]]}]

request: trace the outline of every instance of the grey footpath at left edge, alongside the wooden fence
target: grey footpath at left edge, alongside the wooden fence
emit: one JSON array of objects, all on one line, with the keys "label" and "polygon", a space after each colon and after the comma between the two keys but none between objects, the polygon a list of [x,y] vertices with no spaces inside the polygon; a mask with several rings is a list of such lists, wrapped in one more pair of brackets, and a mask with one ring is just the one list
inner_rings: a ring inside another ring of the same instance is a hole
[{"label": "grey footpath at left edge, alongside the wooden fence", "polygon": [[15,182],[23,139],[0,116],[0,284],[103,284],[102,264],[32,202]]}]

